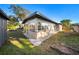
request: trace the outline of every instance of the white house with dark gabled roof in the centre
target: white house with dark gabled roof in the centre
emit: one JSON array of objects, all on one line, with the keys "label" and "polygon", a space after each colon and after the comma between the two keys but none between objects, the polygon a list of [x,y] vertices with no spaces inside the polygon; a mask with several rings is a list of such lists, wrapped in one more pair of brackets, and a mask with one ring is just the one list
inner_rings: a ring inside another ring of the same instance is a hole
[{"label": "white house with dark gabled roof in the centre", "polygon": [[62,25],[48,19],[39,12],[30,14],[23,22],[24,35],[35,46],[40,45],[52,34],[62,31]]}]

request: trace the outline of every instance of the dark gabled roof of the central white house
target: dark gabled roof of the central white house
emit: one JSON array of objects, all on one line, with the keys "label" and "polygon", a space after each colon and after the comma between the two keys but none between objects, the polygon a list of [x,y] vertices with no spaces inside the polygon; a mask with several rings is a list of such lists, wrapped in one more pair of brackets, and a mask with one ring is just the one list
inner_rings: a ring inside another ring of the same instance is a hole
[{"label": "dark gabled roof of the central white house", "polygon": [[48,19],[46,16],[42,15],[38,11],[30,14],[26,19],[24,19],[24,21],[22,23],[26,23],[28,20],[32,20],[34,18],[41,18],[42,20],[45,20],[45,21],[48,21],[48,22],[51,22],[51,23],[58,24],[57,22],[54,22],[54,21]]}]

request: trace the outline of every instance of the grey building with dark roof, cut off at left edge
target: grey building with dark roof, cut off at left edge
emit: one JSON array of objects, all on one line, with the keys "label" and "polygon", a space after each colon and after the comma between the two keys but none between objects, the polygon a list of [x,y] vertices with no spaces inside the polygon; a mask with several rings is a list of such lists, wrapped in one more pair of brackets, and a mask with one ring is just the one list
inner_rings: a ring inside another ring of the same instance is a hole
[{"label": "grey building with dark roof, cut off at left edge", "polygon": [[7,20],[7,15],[0,9],[0,47],[7,40]]}]

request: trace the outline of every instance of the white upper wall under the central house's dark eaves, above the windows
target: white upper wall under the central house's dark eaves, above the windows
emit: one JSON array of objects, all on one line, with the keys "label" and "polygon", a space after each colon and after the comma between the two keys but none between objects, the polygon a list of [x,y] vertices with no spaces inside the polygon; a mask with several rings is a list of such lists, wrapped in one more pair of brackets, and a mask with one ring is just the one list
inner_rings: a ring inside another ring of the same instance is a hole
[{"label": "white upper wall under the central house's dark eaves, above the windows", "polygon": [[34,25],[36,23],[40,22],[42,25],[47,25],[48,28],[52,31],[52,33],[56,32],[57,30],[54,29],[54,27],[56,26],[56,24],[54,23],[50,23],[48,21],[44,21],[42,19],[38,19],[38,18],[35,18],[33,20],[29,20],[28,22],[26,22],[25,24],[30,24],[30,25]]}]

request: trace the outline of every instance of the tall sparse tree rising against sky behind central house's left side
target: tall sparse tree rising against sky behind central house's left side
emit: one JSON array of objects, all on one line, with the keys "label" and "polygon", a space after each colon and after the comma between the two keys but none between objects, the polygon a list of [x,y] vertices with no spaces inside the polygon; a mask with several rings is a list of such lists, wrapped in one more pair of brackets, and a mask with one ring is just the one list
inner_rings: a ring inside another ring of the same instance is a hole
[{"label": "tall sparse tree rising against sky behind central house's left side", "polygon": [[24,20],[26,16],[30,13],[30,11],[22,8],[19,5],[11,5],[10,9],[12,10],[13,14],[16,15],[16,17],[20,18],[20,20]]}]

